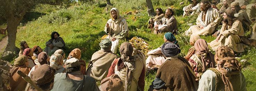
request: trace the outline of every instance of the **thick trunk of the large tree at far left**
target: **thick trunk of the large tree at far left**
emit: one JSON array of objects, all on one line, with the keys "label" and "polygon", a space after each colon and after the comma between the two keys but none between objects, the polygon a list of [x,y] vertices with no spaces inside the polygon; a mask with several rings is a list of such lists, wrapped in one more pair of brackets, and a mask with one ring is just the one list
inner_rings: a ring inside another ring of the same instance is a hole
[{"label": "thick trunk of the large tree at far left", "polygon": [[8,36],[8,43],[5,48],[6,51],[17,51],[15,46],[16,41],[16,34],[17,34],[17,27],[20,23],[21,19],[17,19],[15,17],[11,17],[7,19],[7,36]]}]

